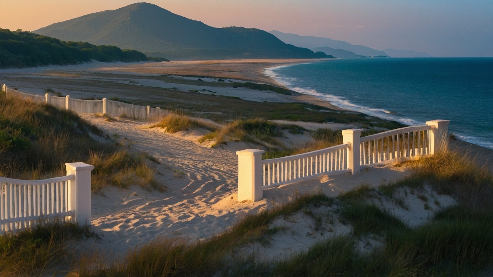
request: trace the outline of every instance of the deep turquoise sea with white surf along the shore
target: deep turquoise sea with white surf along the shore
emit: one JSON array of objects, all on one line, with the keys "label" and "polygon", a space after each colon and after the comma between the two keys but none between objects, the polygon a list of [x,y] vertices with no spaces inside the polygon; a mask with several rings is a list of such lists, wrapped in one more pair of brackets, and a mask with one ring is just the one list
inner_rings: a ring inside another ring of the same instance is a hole
[{"label": "deep turquoise sea with white surf along the shore", "polygon": [[291,89],[408,125],[447,119],[493,149],[493,58],[354,58],[267,69]]}]

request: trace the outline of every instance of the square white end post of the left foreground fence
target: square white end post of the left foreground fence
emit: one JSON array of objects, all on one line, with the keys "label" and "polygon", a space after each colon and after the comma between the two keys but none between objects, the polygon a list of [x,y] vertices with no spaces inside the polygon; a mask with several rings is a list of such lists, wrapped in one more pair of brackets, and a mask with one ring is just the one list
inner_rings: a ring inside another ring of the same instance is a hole
[{"label": "square white end post of the left foreground fence", "polygon": [[84,163],[66,163],[69,181],[69,210],[73,210],[73,220],[79,226],[91,224],[91,171],[94,166]]}]

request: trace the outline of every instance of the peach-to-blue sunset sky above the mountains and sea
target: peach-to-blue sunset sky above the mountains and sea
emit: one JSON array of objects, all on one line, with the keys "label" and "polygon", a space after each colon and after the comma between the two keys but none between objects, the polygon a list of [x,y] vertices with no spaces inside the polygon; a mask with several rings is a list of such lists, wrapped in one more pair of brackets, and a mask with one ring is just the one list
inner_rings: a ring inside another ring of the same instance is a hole
[{"label": "peach-to-blue sunset sky above the mountains and sea", "polygon": [[[0,0],[0,28],[34,31],[136,0]],[[493,0],[147,0],[213,27],[241,26],[434,57],[493,57]]]}]

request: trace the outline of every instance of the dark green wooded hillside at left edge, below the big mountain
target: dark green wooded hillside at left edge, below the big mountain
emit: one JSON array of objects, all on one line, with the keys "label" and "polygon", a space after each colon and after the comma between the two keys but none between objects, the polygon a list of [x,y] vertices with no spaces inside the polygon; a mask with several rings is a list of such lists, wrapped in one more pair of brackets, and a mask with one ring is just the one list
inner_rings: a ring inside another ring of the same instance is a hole
[{"label": "dark green wooded hillside at left edge, below the big mountain", "polygon": [[91,60],[139,62],[147,59],[136,50],[121,50],[116,46],[87,42],[65,42],[45,35],[0,28],[0,68],[73,65]]}]

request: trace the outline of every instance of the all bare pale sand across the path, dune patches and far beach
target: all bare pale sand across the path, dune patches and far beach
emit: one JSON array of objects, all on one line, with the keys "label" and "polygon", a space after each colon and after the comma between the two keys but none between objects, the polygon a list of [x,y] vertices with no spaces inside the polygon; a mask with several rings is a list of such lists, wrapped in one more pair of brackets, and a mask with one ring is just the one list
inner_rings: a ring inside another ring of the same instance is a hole
[{"label": "all bare pale sand across the path, dune patches and far beach", "polygon": [[[93,96],[93,91],[87,88],[87,80],[80,78],[78,72],[123,72],[136,76],[135,79],[122,78],[123,80],[120,82],[125,84],[130,84],[130,81],[136,82],[139,75],[145,74],[210,75],[276,84],[274,79],[264,74],[264,69],[295,62],[308,61],[228,60],[132,64],[90,63],[81,66],[0,70],[0,81],[9,86],[17,87],[19,91],[43,94],[44,89],[40,87],[39,83],[57,80],[56,86],[59,90],[70,93],[73,98],[81,98]],[[76,82],[76,85],[68,86],[64,84],[63,80]],[[150,83],[142,83],[144,81],[141,79],[139,82],[141,82],[139,85],[150,85]],[[183,90],[186,89],[188,88],[183,87]],[[122,92],[114,89],[114,91],[108,90],[102,93],[105,93],[106,97],[110,97],[118,96]],[[329,103],[323,103],[315,97],[297,93],[286,96],[236,89],[224,90],[220,93],[227,96],[243,97],[250,101],[303,101],[337,108]],[[266,208],[281,205],[296,198],[299,194],[321,191],[329,196],[338,196],[361,185],[376,187],[409,174],[405,167],[387,163],[367,168],[357,175],[350,173],[319,175],[296,184],[267,189],[264,191],[264,198],[261,201],[240,203],[237,201],[238,158],[235,151],[250,148],[251,145],[228,142],[228,147],[210,148],[196,142],[197,138],[205,134],[205,130],[191,130],[190,132],[170,135],[158,128],[146,128],[148,123],[145,122],[132,120],[108,122],[93,115],[84,115],[84,118],[101,128],[109,137],[119,137],[132,151],[146,152],[159,160],[161,164],[153,164],[158,171],[156,181],[167,187],[166,192],[160,192],[149,191],[138,186],[132,186],[129,189],[108,186],[100,193],[93,195],[92,225],[93,229],[102,236],[102,239],[85,241],[84,247],[86,249],[98,248],[113,255],[122,256],[135,246],[163,237],[181,238],[191,242],[207,239],[227,230],[246,214],[257,213]],[[307,129],[316,129],[321,126],[334,129],[353,127],[294,123],[305,126]],[[118,136],[114,136],[115,134]],[[478,163],[486,164],[493,169],[491,166],[493,151],[460,141],[456,144],[460,149],[469,149],[470,155],[475,156]],[[423,188],[422,193],[428,195],[430,199],[435,199],[436,203],[441,203],[440,206],[437,206],[431,204],[433,203],[431,201],[430,209],[424,208],[423,200],[419,199],[416,194],[406,191],[399,193],[402,194],[401,196],[409,209],[399,207],[391,199],[376,197],[369,201],[375,201],[382,208],[402,218],[410,226],[422,224],[434,212],[455,203],[450,196],[432,192],[430,187]],[[327,210],[314,210],[314,212],[326,213]],[[270,247],[252,244],[246,245],[242,251],[245,253],[255,251],[260,255],[274,259],[306,250],[314,242],[338,234],[347,234],[352,230],[351,226],[335,220],[333,223],[325,222],[321,232],[315,232],[313,219],[301,212],[293,215],[289,222],[280,218],[274,224],[286,226],[286,229],[271,238],[273,243]],[[379,245],[378,241],[370,243],[365,240],[362,239],[360,242],[361,251],[371,251],[373,247]]]}]

